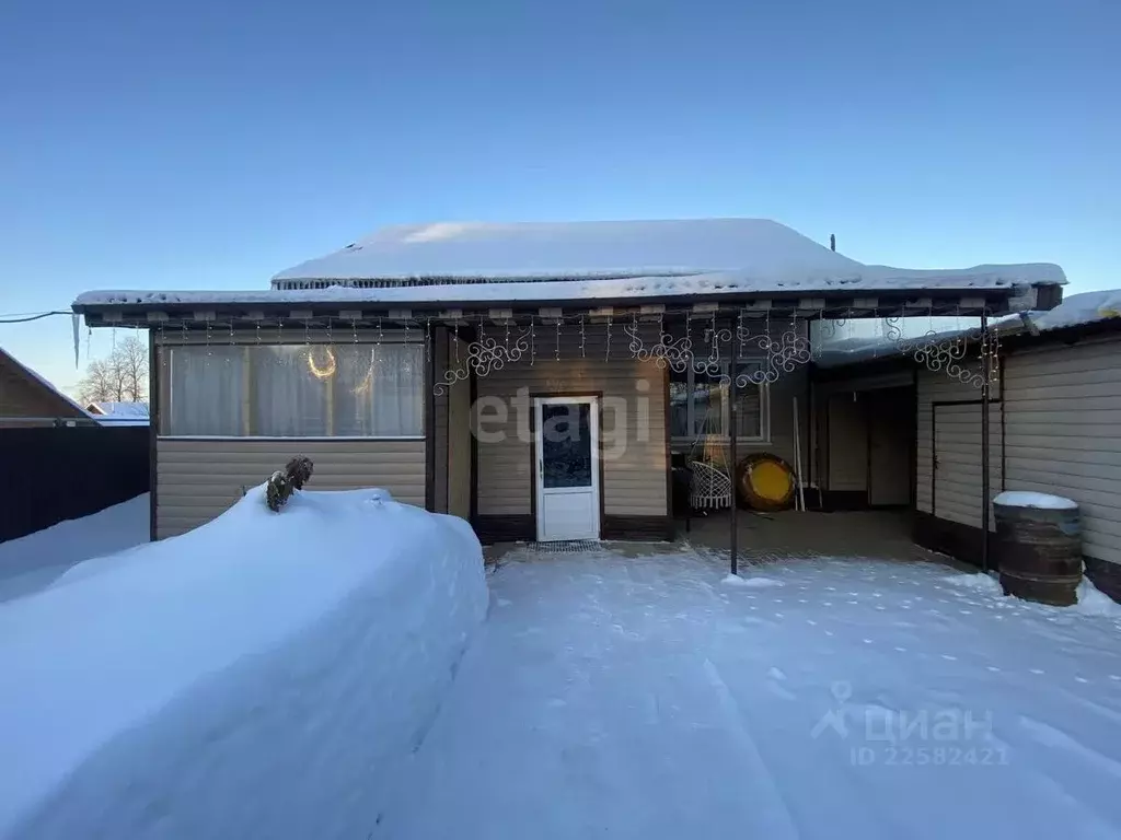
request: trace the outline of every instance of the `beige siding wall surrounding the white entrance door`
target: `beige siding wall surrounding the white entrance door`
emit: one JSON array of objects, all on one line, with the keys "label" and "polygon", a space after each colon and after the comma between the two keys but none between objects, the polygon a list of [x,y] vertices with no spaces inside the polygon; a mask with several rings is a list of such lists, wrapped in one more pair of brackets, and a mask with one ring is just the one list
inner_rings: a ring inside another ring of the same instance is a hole
[{"label": "beige siding wall surrounding the white entrance door", "polygon": [[[583,357],[580,338],[568,335],[571,330],[568,327],[562,337],[562,361],[555,361],[555,335],[547,326],[538,326],[537,357],[532,365],[521,361],[479,377],[475,423],[480,422],[481,410],[483,431],[478,444],[479,513],[530,513],[534,485],[529,395],[602,392],[605,404],[601,429],[606,441],[604,512],[608,515],[665,516],[666,372],[652,363],[632,360],[619,325],[615,325],[610,361],[606,360],[608,345],[602,326],[587,327]],[[526,396],[520,403],[512,399],[519,390]],[[623,398],[623,426],[617,426],[620,418],[606,398]],[[613,454],[613,449],[618,454]]]}]

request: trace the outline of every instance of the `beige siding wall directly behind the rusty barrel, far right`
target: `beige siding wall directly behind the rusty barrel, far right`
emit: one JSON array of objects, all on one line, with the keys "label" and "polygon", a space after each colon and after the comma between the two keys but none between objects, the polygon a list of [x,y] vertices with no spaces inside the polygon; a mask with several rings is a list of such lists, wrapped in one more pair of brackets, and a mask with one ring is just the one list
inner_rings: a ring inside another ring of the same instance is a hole
[{"label": "beige siding wall directly behind the rusty barrel, far right", "polygon": [[1121,562],[1121,339],[1011,354],[1007,486],[1077,502],[1087,557]]}]

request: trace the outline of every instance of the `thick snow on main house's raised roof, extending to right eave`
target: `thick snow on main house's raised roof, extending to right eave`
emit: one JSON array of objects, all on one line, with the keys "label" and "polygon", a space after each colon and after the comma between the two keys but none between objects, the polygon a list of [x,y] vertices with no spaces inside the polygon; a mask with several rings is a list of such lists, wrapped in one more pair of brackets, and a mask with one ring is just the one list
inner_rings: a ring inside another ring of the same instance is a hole
[{"label": "thick snow on main house's raised roof, extending to right eave", "polygon": [[[724,282],[782,288],[791,283],[961,282],[966,287],[1064,283],[1047,263],[908,270],[864,265],[767,218],[646,222],[441,222],[385,227],[341,251],[279,272],[294,280],[559,280],[719,274]],[[883,286],[887,283],[887,286]],[[907,288],[905,286],[905,288]],[[771,289],[765,289],[771,290]],[[508,292],[507,292],[508,293]]]}]

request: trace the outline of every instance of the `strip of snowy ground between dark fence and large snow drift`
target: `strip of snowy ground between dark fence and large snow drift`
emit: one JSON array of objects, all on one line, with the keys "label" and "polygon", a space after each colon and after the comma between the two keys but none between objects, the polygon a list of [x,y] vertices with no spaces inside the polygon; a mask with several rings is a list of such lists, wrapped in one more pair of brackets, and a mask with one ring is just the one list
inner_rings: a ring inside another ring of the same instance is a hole
[{"label": "strip of snowy ground between dark fence and large snow drift", "polygon": [[148,542],[148,494],[0,542],[0,601],[43,589],[74,563]]}]

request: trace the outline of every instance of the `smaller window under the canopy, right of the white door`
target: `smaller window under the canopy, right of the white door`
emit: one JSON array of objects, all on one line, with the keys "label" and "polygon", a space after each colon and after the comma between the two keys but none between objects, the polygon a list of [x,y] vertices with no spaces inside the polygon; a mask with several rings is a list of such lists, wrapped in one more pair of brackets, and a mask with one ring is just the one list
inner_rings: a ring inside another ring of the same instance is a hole
[{"label": "smaller window under the canopy, right of the white door", "polygon": [[[722,365],[726,373],[729,365]],[[759,370],[759,362],[739,362],[739,374]],[[728,437],[731,424],[730,391],[719,377],[696,373],[688,368],[682,373],[670,371],[669,435],[676,440],[695,440],[705,437]],[[736,437],[741,440],[766,440],[767,386],[748,383],[736,395]]]}]

